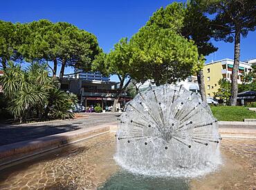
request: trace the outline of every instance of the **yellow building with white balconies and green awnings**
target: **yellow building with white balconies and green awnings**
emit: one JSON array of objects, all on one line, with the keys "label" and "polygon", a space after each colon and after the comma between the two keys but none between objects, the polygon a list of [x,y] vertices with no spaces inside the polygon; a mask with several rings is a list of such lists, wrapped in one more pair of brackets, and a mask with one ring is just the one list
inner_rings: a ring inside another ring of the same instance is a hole
[{"label": "yellow building with white balconies and green awnings", "polygon": [[[221,59],[212,63],[206,63],[203,67],[203,76],[205,81],[206,96],[214,96],[214,92],[219,89],[219,79],[227,78],[231,82],[232,67],[234,61],[232,59]],[[239,63],[239,76],[237,82],[241,83],[241,74],[251,70],[251,64],[246,62]]]}]

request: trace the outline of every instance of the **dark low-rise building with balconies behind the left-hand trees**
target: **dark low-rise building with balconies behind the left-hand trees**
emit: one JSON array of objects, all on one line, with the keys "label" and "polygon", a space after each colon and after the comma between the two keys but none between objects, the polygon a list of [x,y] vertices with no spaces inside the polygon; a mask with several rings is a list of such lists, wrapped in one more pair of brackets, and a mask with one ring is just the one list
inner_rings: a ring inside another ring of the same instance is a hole
[{"label": "dark low-rise building with balconies behind the left-hand trees", "polygon": [[[80,103],[85,107],[100,103],[104,109],[113,105],[118,85],[117,82],[110,81],[109,76],[104,76],[100,72],[75,70],[75,74],[62,79],[61,89],[77,94]],[[128,101],[131,101],[131,97],[126,92],[121,94],[118,107],[123,107]]]}]

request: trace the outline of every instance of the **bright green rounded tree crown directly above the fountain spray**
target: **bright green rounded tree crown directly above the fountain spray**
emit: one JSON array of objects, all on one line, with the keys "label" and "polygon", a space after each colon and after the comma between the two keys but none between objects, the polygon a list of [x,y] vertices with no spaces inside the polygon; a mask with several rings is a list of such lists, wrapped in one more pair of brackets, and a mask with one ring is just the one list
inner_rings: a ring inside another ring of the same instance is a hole
[{"label": "bright green rounded tree crown directly above the fountain spray", "polygon": [[[194,43],[172,30],[145,26],[131,38],[130,45],[136,70],[142,78],[154,79],[156,85],[184,80],[203,67]],[[134,78],[141,81],[139,77]]]}]

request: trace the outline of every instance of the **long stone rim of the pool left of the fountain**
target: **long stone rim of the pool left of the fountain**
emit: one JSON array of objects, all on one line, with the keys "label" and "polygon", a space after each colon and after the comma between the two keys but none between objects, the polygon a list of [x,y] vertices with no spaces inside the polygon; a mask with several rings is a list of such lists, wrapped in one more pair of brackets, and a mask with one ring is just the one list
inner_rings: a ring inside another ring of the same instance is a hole
[{"label": "long stone rim of the pool left of the fountain", "polygon": [[0,146],[0,170],[8,167],[7,165],[10,165],[12,162],[24,160],[25,158],[42,154],[46,151],[51,151],[86,138],[107,133],[114,125],[116,125],[116,123],[108,123]]}]

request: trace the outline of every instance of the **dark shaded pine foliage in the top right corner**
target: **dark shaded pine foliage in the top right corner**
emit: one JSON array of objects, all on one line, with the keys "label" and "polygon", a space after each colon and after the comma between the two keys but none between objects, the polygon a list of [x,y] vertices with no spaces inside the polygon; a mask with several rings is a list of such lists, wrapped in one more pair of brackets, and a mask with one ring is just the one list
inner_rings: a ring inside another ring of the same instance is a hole
[{"label": "dark shaded pine foliage in the top right corner", "polygon": [[216,40],[233,42],[235,32],[246,37],[256,27],[256,1],[251,0],[200,0],[205,12],[214,15],[214,37]]}]

